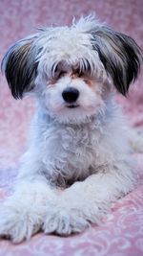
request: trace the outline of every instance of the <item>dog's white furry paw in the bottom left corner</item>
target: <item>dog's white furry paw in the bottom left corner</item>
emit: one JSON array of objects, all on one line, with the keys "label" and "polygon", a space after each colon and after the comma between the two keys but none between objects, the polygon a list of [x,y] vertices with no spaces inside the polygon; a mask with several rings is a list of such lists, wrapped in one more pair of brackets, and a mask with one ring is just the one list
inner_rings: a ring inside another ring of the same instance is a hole
[{"label": "dog's white furry paw in the bottom left corner", "polygon": [[[31,206],[30,206],[31,207]],[[7,205],[0,210],[0,237],[20,243],[30,239],[42,226],[41,216],[25,205]]]}]

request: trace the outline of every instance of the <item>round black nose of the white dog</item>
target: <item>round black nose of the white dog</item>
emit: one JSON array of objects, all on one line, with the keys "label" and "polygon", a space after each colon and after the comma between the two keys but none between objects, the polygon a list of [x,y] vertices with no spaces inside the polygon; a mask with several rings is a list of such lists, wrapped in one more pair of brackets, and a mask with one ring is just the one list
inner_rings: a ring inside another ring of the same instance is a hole
[{"label": "round black nose of the white dog", "polygon": [[68,87],[63,91],[62,96],[66,103],[72,104],[76,102],[79,96],[79,91],[73,87]]}]

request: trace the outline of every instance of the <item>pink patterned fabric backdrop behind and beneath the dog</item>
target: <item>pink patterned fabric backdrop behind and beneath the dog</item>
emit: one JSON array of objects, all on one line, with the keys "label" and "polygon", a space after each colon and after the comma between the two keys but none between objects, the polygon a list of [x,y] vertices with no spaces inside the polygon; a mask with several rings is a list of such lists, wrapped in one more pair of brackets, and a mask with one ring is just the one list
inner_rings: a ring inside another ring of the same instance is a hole
[{"label": "pink patterned fabric backdrop behind and beneath the dog", "polygon": [[[11,43],[41,25],[69,24],[73,16],[96,12],[119,32],[132,35],[142,47],[142,0],[3,0],[0,1],[0,58]],[[143,126],[143,72],[127,99],[118,96],[133,126]],[[15,101],[0,75],[0,200],[7,197],[18,170],[18,157],[25,150],[34,104]],[[30,242],[13,245],[0,241],[0,256],[46,255],[143,255],[143,157],[135,156],[140,184],[114,205],[99,226],[80,235],[60,238],[38,234]]]}]

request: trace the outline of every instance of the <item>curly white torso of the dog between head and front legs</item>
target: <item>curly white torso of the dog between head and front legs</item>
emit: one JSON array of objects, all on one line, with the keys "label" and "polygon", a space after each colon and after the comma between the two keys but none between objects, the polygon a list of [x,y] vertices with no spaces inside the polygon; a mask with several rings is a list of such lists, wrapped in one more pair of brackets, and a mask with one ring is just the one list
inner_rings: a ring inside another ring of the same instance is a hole
[{"label": "curly white torso of the dog between head and front legs", "polygon": [[[124,159],[130,151],[125,120],[113,101],[107,105],[105,113],[79,125],[59,124],[38,109],[31,124],[31,147],[23,156],[20,176],[40,173],[53,187],[66,188],[89,175],[106,173],[108,165]],[[26,168],[29,161],[30,168]]]}]

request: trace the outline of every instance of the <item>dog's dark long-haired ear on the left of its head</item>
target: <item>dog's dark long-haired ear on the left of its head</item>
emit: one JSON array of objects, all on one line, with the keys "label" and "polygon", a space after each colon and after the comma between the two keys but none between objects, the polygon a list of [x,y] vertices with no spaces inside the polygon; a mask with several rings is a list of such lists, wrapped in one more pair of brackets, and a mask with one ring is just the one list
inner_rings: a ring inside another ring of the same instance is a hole
[{"label": "dog's dark long-haired ear on the left of its head", "polygon": [[37,61],[32,47],[34,36],[23,39],[10,47],[2,60],[2,72],[5,73],[10,91],[15,99],[22,99],[24,93],[33,89]]}]

